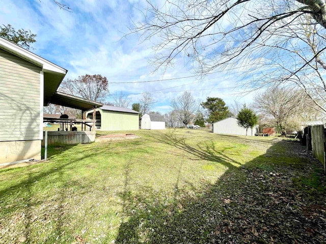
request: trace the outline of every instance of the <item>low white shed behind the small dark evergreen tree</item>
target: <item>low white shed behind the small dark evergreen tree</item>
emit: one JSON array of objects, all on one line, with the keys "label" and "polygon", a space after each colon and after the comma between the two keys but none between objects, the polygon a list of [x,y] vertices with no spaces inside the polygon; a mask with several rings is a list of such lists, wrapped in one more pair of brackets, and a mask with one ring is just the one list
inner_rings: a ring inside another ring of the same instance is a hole
[{"label": "low white shed behind the small dark evergreen tree", "polygon": [[[213,132],[216,134],[229,134],[229,135],[246,135],[246,128],[238,125],[236,117],[228,117],[217,121],[213,124]],[[248,136],[254,136],[259,133],[259,125],[248,129]]]}]

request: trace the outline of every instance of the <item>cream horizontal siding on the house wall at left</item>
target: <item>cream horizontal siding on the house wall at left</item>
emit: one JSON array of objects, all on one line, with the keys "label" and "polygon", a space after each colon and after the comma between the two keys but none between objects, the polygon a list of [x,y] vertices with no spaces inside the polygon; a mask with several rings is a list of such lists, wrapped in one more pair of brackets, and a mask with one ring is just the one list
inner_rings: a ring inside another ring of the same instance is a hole
[{"label": "cream horizontal siding on the house wall at left", "polygon": [[40,139],[40,72],[40,67],[0,49],[0,141]]}]

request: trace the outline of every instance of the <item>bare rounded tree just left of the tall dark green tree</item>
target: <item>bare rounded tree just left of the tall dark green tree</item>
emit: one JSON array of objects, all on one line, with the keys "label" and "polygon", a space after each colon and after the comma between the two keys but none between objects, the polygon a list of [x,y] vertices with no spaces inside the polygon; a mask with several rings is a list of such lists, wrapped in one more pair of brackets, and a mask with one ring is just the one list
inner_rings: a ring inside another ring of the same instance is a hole
[{"label": "bare rounded tree just left of the tall dark green tree", "polygon": [[171,106],[185,127],[193,120],[198,110],[198,104],[189,92],[184,92],[180,97],[172,99]]}]

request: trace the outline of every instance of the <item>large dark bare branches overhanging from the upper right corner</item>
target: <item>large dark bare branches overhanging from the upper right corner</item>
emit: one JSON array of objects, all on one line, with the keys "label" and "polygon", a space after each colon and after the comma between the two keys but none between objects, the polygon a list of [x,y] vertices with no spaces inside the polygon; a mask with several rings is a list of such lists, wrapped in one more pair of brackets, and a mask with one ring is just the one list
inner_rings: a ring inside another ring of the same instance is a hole
[{"label": "large dark bare branches overhanging from the upper right corner", "polygon": [[156,69],[183,55],[203,75],[242,74],[248,90],[300,87],[326,113],[325,0],[148,1],[144,16],[131,32],[156,44]]}]

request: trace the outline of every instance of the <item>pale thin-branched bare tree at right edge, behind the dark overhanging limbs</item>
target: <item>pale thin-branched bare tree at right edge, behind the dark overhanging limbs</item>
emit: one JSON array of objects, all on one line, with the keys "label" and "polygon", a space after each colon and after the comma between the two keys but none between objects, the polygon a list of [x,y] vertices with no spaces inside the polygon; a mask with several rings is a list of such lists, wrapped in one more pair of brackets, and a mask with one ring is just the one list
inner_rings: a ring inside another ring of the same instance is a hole
[{"label": "pale thin-branched bare tree at right edge, behind the dark overhanging limbs", "polygon": [[309,16],[298,17],[297,22],[300,23],[298,26],[283,23],[284,32],[275,35],[274,43],[265,45],[265,51],[271,54],[267,61],[270,68],[249,81],[249,86],[287,84],[297,87],[310,98],[315,109],[326,113],[326,64],[323,61],[326,59],[326,39],[321,34],[323,27],[314,25]]}]

